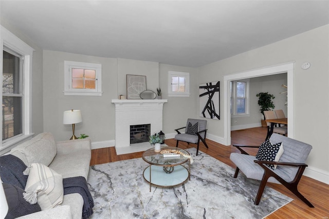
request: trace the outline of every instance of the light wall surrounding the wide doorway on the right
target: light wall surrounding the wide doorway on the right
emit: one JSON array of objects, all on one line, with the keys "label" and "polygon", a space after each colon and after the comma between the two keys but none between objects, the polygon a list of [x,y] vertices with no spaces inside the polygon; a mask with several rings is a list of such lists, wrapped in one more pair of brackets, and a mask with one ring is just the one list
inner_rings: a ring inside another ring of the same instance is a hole
[{"label": "light wall surrounding the wide doorway on the right", "polygon": [[[199,81],[223,81],[225,75],[251,69],[294,63],[294,138],[313,145],[308,175],[329,183],[329,25],[238,54],[199,68]],[[301,69],[304,62],[311,67]],[[223,89],[221,87],[221,95]],[[221,105],[223,96],[221,96]],[[223,109],[221,108],[221,114]],[[224,135],[223,120],[208,122],[209,132]]]}]

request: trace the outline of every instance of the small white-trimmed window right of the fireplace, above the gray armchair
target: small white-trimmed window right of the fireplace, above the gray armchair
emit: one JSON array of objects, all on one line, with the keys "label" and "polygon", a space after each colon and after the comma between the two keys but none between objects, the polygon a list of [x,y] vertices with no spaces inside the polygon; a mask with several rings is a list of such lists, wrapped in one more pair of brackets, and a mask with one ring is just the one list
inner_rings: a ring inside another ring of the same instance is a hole
[{"label": "small white-trimmed window right of the fireplace, above the gray armchair", "polygon": [[190,73],[180,71],[168,71],[168,96],[190,96]]}]

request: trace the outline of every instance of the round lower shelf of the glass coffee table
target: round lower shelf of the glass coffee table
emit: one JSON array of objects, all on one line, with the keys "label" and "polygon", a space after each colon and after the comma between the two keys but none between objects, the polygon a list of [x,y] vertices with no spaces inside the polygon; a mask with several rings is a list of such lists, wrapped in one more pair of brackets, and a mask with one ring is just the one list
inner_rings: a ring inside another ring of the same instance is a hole
[{"label": "round lower shelf of the glass coffee table", "polygon": [[144,179],[150,183],[151,192],[151,185],[160,187],[173,187],[181,185],[188,180],[190,173],[188,169],[182,165],[174,166],[174,171],[172,173],[166,173],[163,171],[163,166],[150,165],[145,168],[143,176]]}]

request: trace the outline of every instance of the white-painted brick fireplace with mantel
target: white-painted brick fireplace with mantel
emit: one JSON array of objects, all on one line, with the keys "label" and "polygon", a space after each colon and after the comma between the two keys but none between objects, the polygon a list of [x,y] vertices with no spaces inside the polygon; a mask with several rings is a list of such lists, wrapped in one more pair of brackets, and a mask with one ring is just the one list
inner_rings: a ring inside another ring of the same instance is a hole
[{"label": "white-painted brick fireplace with mantel", "polygon": [[151,124],[151,133],[162,130],[163,103],[168,100],[113,99],[115,104],[115,148],[117,154],[144,151],[151,148],[149,142],[130,144],[130,126]]}]

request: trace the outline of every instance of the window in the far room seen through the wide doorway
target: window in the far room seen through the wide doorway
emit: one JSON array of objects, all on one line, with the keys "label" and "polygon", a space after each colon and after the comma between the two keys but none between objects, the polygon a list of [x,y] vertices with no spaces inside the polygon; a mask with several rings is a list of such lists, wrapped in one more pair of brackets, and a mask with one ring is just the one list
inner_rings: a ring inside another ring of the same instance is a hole
[{"label": "window in the far room seen through the wide doorway", "polygon": [[249,79],[230,82],[231,116],[249,114]]}]

